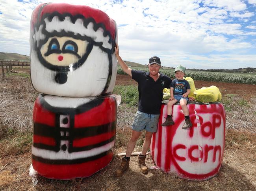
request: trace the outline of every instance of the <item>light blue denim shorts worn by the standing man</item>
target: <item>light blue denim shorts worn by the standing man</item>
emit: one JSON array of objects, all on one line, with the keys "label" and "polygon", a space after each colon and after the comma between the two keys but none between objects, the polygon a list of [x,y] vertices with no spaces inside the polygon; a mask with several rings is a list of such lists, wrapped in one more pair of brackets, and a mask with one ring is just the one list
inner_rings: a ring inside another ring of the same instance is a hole
[{"label": "light blue denim shorts worn by the standing man", "polygon": [[156,132],[159,116],[160,114],[154,115],[137,111],[134,116],[132,130],[140,132],[145,129],[148,132]]}]

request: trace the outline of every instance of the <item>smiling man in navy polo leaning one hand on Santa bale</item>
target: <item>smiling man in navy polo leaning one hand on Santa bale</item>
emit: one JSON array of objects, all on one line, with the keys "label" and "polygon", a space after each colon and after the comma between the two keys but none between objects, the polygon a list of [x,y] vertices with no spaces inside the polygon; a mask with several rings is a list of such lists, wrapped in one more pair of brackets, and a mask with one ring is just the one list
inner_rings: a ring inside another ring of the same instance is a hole
[{"label": "smiling man in navy polo leaning one hand on Santa bale", "polygon": [[122,158],[121,166],[117,169],[116,175],[118,177],[121,176],[129,166],[130,156],[143,129],[146,130],[146,134],[142,151],[139,155],[139,167],[142,173],[147,173],[148,168],[145,164],[145,158],[150,146],[151,137],[157,129],[163,89],[169,88],[172,80],[168,76],[158,73],[161,67],[161,61],[157,56],[149,59],[149,72],[143,72],[131,69],[124,63],[119,56],[119,47],[117,44],[115,46],[115,55],[122,70],[138,82],[139,91],[139,108],[134,116],[132,136],[128,142],[126,155]]}]

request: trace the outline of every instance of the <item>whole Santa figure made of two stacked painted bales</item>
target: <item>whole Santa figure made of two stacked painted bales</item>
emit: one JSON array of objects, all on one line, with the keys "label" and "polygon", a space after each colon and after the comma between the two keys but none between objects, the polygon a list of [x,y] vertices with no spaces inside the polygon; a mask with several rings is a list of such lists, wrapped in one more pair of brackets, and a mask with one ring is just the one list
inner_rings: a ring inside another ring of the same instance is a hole
[{"label": "whole Santa figure made of two stacked painted bales", "polygon": [[[46,178],[88,177],[113,158],[117,25],[86,5],[45,3],[32,13],[32,166]],[[120,101],[120,100],[119,100]]]}]

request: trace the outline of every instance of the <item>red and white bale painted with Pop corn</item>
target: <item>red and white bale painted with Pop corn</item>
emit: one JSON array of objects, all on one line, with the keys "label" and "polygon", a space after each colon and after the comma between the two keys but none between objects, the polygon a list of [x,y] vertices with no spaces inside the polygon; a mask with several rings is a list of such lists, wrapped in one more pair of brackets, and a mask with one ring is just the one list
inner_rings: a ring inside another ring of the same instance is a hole
[{"label": "red and white bale painted with Pop corn", "polygon": [[193,124],[182,129],[184,114],[173,106],[173,126],[162,127],[167,104],[162,104],[158,130],[152,136],[152,158],[162,171],[189,180],[206,180],[219,172],[224,155],[226,117],[221,103],[188,104]]}]

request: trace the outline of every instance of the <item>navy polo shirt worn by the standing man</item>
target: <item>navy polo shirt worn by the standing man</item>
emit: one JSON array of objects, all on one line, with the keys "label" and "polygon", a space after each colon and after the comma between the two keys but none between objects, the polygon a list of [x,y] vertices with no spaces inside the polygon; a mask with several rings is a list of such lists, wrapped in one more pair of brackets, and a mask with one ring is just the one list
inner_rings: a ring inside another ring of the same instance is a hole
[{"label": "navy polo shirt worn by the standing man", "polygon": [[160,73],[156,82],[149,72],[132,69],[132,79],[138,82],[139,111],[148,114],[160,114],[163,89],[170,88],[171,78]]}]

